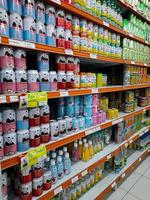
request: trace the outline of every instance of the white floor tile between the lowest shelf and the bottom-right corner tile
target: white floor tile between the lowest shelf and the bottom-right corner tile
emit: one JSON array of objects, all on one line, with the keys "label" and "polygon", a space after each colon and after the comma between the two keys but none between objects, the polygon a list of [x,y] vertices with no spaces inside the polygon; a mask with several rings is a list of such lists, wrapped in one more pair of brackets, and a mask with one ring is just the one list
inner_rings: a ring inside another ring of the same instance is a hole
[{"label": "white floor tile between the lowest shelf and the bottom-right corner tile", "polygon": [[120,188],[125,191],[129,191],[140,178],[140,176],[140,174],[132,173],[125,181],[123,181],[123,183],[120,185]]}]

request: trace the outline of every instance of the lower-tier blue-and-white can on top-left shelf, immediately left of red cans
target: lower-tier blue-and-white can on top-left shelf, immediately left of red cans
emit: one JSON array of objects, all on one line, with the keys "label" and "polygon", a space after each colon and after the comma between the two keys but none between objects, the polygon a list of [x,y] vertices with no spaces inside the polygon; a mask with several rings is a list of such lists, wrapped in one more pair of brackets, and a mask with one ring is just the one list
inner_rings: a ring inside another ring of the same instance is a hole
[{"label": "lower-tier blue-and-white can on top-left shelf, immediately left of red cans", "polygon": [[52,24],[46,25],[46,44],[56,46],[56,29]]}]

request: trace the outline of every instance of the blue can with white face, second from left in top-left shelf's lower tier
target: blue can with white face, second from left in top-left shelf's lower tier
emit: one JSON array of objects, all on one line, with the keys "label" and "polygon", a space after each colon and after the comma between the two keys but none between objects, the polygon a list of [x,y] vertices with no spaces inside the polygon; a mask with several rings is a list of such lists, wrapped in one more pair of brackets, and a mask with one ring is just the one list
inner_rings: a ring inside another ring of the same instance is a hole
[{"label": "blue can with white face, second from left in top-left shelf's lower tier", "polygon": [[9,16],[10,37],[13,39],[23,40],[23,22],[21,16],[14,12]]}]

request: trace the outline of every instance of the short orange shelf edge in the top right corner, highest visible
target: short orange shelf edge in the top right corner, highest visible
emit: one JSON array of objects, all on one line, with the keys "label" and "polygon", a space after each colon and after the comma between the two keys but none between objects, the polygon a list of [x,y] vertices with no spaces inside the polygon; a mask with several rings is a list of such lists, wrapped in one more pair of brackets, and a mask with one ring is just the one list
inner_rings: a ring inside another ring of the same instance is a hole
[{"label": "short orange shelf edge in the top right corner, highest visible", "polygon": [[142,14],[140,14],[138,12],[138,10],[136,8],[134,8],[132,5],[130,5],[128,2],[126,2],[126,0],[118,0],[118,2],[121,4],[122,7],[124,7],[126,10],[134,13],[136,16],[138,16],[139,18],[141,18],[143,21],[147,22],[148,24],[150,24],[150,20],[147,19],[146,17],[144,17]]}]

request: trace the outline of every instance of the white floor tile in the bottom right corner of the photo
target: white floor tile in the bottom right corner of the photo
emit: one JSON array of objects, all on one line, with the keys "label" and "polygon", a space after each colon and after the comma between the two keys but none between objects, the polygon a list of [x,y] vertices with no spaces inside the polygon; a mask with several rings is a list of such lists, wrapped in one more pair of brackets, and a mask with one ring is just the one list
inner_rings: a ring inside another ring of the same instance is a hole
[{"label": "white floor tile in the bottom right corner of the photo", "polygon": [[141,177],[129,193],[141,200],[150,200],[150,180]]}]

